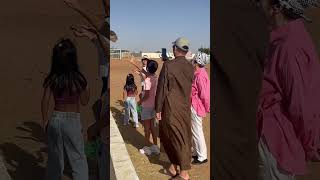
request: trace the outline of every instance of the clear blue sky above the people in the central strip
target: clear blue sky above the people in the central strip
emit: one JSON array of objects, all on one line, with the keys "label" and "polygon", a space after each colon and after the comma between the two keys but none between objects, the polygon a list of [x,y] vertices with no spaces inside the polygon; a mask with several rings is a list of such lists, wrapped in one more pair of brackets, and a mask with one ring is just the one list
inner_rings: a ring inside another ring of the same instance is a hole
[{"label": "clear blue sky above the people in the central strip", "polygon": [[210,47],[210,0],[110,0],[111,47],[135,52],[172,51],[178,37],[191,51]]}]

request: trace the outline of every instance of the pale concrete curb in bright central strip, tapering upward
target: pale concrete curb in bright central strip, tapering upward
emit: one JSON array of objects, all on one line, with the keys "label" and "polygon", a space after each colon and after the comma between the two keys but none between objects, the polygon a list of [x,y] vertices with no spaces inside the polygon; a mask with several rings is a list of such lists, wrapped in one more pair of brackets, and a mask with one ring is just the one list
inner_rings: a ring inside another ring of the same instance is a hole
[{"label": "pale concrete curb in bright central strip, tapering upward", "polygon": [[[126,145],[110,111],[110,155],[116,180],[139,180]],[[112,174],[111,172],[110,174]]]}]

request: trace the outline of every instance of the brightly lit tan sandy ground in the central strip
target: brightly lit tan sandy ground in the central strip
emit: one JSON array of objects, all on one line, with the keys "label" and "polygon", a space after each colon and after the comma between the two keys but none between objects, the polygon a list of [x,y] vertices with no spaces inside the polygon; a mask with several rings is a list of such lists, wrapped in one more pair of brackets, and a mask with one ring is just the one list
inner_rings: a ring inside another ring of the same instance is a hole
[{"label": "brightly lit tan sandy ground in the central strip", "polygon": [[[139,62],[139,61],[137,61]],[[161,61],[160,67],[157,73],[160,73],[161,70]],[[129,64],[127,60],[112,60],[111,61],[111,111],[117,121],[119,130],[123,136],[124,141],[126,142],[126,147],[128,149],[129,155],[133,162],[133,165],[136,169],[136,172],[141,180],[147,179],[168,179],[169,176],[164,175],[160,171],[163,169],[163,166],[168,165],[168,160],[165,155],[151,156],[147,157],[139,153],[139,149],[144,146],[144,133],[142,125],[136,130],[132,126],[122,126],[123,120],[123,102],[122,102],[122,90],[125,84],[126,75],[132,73],[133,66]],[[208,68],[208,72],[209,72]],[[140,79],[138,76],[135,76],[135,82],[138,87],[140,87]],[[139,89],[140,92],[140,89]],[[204,119],[204,132],[205,138],[208,146],[208,153],[210,152],[210,116]],[[210,153],[209,153],[210,154]],[[210,162],[210,155],[208,158]],[[197,180],[207,180],[210,179],[210,163],[206,163],[200,166],[192,166],[190,171],[191,179]]]}]

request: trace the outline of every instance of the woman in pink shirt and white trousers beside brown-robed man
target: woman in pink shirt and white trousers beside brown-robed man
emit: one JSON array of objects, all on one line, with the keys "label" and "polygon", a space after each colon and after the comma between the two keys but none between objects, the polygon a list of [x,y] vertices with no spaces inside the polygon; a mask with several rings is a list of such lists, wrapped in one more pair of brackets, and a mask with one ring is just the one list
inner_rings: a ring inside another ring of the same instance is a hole
[{"label": "woman in pink shirt and white trousers beside brown-robed man", "polygon": [[193,164],[203,164],[208,161],[202,128],[202,118],[210,112],[210,80],[205,70],[205,65],[208,63],[208,55],[201,52],[198,52],[193,60],[195,69],[191,90]]}]

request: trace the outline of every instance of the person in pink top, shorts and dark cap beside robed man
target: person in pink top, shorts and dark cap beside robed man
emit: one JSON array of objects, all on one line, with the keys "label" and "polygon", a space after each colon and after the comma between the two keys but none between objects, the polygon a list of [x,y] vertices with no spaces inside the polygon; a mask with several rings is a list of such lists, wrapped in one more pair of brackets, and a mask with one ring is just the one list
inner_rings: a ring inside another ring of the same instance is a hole
[{"label": "person in pink top, shorts and dark cap beside robed man", "polygon": [[[142,105],[141,120],[144,126],[145,142],[146,145],[152,144],[151,147],[145,146],[140,149],[140,152],[146,155],[151,153],[159,154],[160,150],[157,146],[157,135],[153,121],[155,118],[155,96],[157,90],[158,77],[155,74],[158,69],[158,63],[154,60],[148,60],[147,74],[144,86],[144,96],[139,101],[139,105]],[[149,141],[150,133],[152,134],[153,143]]]}]

